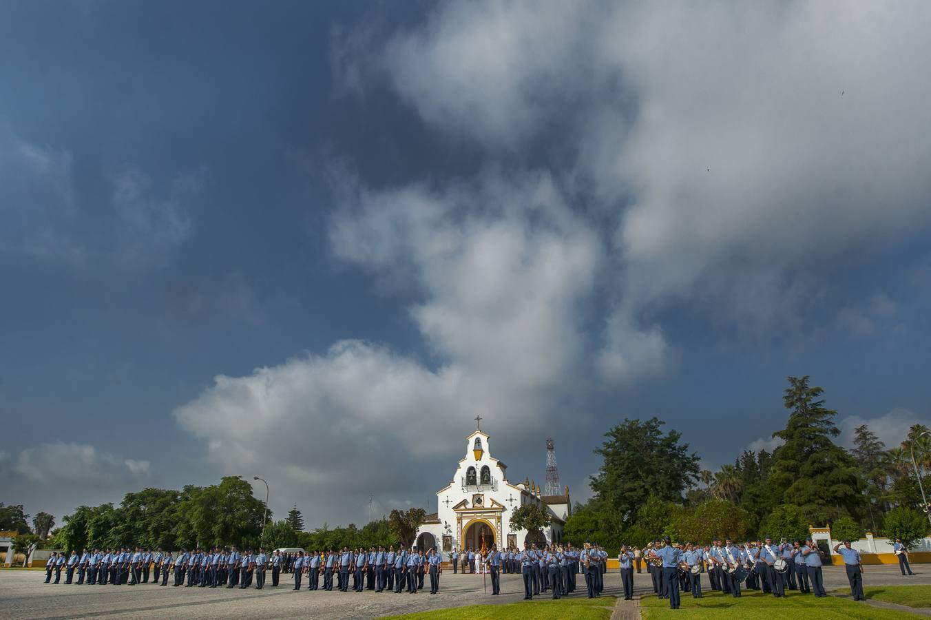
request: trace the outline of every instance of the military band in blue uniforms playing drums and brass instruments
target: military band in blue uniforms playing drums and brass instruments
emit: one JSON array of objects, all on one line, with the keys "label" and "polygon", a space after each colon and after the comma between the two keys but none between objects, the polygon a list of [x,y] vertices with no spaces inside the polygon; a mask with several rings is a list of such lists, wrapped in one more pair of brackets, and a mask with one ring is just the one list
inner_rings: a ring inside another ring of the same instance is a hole
[{"label": "military band in blue uniforms playing drums and brass instruments", "polygon": [[[859,551],[850,546],[850,541],[843,541],[834,546],[834,552],[843,558],[854,600],[864,600],[863,562]],[[762,590],[777,599],[785,597],[787,589],[802,594],[814,593],[816,598],[828,596],[822,579],[823,554],[811,538],[781,540],[777,545],[770,537],[743,545],[725,538],[723,541],[715,539],[709,546],[700,546],[673,544],[667,537],[651,543],[644,557],[653,579],[654,593],[660,599],[668,599],[671,609],[679,609],[681,592],[701,598],[702,573],[708,574],[710,589],[735,598],[740,597],[743,588]],[[618,561],[626,599],[632,593],[634,559],[633,551],[622,546]]]}]

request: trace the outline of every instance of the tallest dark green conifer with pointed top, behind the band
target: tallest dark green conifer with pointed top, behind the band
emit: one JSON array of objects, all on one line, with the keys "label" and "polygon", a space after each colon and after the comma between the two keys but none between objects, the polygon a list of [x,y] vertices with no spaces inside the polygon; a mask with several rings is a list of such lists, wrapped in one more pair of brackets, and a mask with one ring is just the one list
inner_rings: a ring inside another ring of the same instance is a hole
[{"label": "tallest dark green conifer with pointed top, behind the band", "polygon": [[769,472],[784,504],[798,505],[820,522],[841,517],[844,510],[856,515],[862,501],[857,462],[831,441],[840,433],[834,425],[837,411],[824,406],[823,393],[807,376],[789,377],[783,400],[791,413],[786,428],[773,434],[784,443],[776,448]]}]

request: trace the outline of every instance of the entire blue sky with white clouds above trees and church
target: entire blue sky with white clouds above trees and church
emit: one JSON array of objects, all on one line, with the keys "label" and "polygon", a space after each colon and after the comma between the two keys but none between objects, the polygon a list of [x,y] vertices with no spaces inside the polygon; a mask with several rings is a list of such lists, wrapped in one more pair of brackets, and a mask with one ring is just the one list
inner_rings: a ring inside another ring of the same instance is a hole
[{"label": "entire blue sky with white clouds above trees and church", "polygon": [[0,2],[0,501],[259,475],[363,522],[477,413],[585,499],[624,417],[771,445],[789,374],[896,443],[931,420],[928,13]]}]

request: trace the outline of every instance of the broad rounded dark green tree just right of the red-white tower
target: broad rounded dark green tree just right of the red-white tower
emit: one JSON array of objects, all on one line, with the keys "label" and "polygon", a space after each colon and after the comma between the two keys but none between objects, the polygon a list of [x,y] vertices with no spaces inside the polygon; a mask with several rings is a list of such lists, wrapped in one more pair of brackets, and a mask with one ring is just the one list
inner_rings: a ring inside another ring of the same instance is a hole
[{"label": "broad rounded dark green tree just right of the red-white tower", "polygon": [[605,433],[608,440],[595,451],[603,461],[591,478],[591,489],[626,525],[637,521],[651,494],[681,503],[682,492],[698,478],[698,456],[680,442],[681,433],[670,430],[664,435],[662,425],[657,418],[625,419]]}]

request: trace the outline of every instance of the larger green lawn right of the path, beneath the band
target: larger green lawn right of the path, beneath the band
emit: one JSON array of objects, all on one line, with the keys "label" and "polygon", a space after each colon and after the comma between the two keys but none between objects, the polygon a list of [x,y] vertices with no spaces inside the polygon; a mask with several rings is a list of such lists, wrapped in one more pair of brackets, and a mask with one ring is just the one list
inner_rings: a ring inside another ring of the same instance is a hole
[{"label": "larger green lawn right of the path, beneath the band", "polygon": [[[929,586],[931,587],[931,586]],[[876,588],[889,589],[889,588]],[[693,599],[691,595],[681,597],[681,608],[669,609],[668,600],[658,600],[654,596],[641,599],[641,612],[644,618],[735,618],[752,620],[753,618],[913,618],[911,613],[871,607],[864,602],[828,597],[816,599],[812,595],[792,592],[784,599],[776,599],[761,592],[747,593],[735,599],[721,592],[705,592],[704,598]],[[714,613],[709,613],[714,612]]]}]

